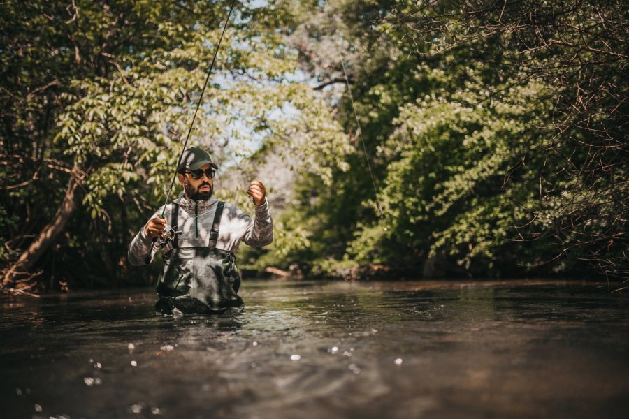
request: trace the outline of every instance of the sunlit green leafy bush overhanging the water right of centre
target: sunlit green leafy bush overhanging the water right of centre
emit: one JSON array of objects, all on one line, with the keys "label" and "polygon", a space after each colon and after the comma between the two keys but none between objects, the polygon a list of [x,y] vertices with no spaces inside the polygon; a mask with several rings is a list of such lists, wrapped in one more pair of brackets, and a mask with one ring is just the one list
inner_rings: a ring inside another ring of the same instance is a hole
[{"label": "sunlit green leafy bush overhanging the water right of centre", "polygon": [[[428,78],[442,75],[422,70]],[[349,254],[363,263],[412,263],[410,247],[467,269],[472,260],[490,269],[511,262],[505,249],[514,247],[514,226],[526,223],[537,185],[530,173],[517,184],[505,178],[543,139],[530,124],[542,108],[531,98],[543,92],[533,83],[490,100],[470,80],[464,89],[403,105],[380,149],[391,161],[379,196],[384,217],[359,230]]]}]

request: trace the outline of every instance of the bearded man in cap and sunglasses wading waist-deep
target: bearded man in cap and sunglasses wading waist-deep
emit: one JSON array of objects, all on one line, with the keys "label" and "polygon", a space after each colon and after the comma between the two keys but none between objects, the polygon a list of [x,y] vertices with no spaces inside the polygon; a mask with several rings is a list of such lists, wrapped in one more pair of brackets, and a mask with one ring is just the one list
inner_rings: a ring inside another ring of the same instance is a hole
[{"label": "bearded man in cap and sunglasses wading waist-deep", "polygon": [[[132,265],[148,264],[157,251],[163,251],[165,265],[155,306],[163,314],[242,311],[234,253],[241,241],[255,247],[273,241],[262,182],[251,182],[247,189],[256,205],[251,219],[235,205],[212,199],[217,168],[208,152],[194,147],[185,150],[177,168],[184,192],[165,210],[160,207],[129,246]],[[174,240],[158,240],[152,246],[169,228],[177,232]]]}]

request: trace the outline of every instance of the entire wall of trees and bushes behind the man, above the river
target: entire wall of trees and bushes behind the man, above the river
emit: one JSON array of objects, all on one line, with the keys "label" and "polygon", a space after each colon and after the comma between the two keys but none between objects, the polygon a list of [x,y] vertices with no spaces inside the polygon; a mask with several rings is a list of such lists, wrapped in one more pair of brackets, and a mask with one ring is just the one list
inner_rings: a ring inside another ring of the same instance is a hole
[{"label": "entire wall of trees and bushes behind the man, above the river", "polygon": [[[126,247],[229,3],[0,6],[3,288],[152,280]],[[241,267],[629,277],[622,2],[258,3],[236,1],[191,138],[219,197],[271,188],[275,243]]]}]

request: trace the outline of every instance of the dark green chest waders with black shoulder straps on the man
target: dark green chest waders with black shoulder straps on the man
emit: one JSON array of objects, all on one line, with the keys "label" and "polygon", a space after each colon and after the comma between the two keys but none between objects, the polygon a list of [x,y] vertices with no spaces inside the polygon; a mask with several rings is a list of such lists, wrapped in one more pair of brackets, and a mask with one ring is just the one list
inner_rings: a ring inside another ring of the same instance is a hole
[{"label": "dark green chest waders with black shoulder straps on the man", "polygon": [[[179,247],[175,237],[173,249],[164,254],[165,266],[157,283],[159,301],[155,311],[212,314],[240,312],[245,307],[238,296],[240,274],[236,256],[216,247],[224,204],[217,203],[207,246]],[[172,225],[177,226],[179,205],[172,205]]]}]

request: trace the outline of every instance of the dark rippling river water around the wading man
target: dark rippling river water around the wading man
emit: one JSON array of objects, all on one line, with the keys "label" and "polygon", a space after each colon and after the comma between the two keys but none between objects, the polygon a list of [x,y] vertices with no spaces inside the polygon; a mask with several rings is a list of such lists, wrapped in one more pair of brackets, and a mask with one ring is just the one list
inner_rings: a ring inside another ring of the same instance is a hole
[{"label": "dark rippling river water around the wading man", "polygon": [[629,300],[552,281],[248,281],[0,300],[1,418],[626,418]]}]

